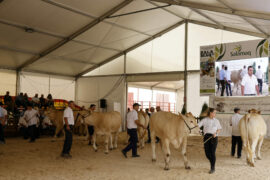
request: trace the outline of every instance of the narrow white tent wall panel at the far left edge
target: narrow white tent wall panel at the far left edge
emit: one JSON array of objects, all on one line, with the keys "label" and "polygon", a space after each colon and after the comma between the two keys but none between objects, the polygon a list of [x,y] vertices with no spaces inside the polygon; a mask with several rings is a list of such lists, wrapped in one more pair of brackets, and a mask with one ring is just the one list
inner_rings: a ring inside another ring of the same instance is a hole
[{"label": "narrow white tent wall panel at the far left edge", "polygon": [[0,95],[9,91],[11,96],[16,93],[16,71],[0,70]]}]

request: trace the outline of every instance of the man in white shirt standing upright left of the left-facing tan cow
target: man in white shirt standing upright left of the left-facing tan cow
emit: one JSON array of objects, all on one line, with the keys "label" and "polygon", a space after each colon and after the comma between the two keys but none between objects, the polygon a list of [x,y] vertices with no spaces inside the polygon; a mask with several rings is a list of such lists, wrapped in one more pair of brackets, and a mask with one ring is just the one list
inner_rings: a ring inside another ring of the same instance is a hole
[{"label": "man in white shirt standing upright left of the left-facing tan cow", "polygon": [[69,101],[68,102],[68,107],[64,111],[64,129],[65,129],[65,141],[64,141],[64,146],[63,146],[63,151],[61,156],[64,158],[71,158],[72,156],[70,155],[70,149],[72,146],[72,129],[74,126],[74,115],[73,115],[73,110],[74,108],[74,102]]}]

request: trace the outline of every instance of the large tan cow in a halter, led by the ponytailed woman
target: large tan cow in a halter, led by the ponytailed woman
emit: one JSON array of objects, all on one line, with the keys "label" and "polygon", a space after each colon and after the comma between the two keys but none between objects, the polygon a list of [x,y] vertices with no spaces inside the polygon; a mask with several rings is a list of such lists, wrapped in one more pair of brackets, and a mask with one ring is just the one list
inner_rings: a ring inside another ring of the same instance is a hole
[{"label": "large tan cow in a halter, led by the ponytailed woman", "polygon": [[[186,155],[187,136],[191,131],[199,133],[196,119],[191,113],[176,115],[170,112],[156,112],[150,119],[150,131],[151,139],[155,139],[156,136],[161,139],[162,150],[165,155],[165,170],[169,170],[170,143],[176,149],[182,145],[184,165],[186,169],[190,169]],[[151,145],[152,161],[156,161],[155,141],[152,140]]]}]

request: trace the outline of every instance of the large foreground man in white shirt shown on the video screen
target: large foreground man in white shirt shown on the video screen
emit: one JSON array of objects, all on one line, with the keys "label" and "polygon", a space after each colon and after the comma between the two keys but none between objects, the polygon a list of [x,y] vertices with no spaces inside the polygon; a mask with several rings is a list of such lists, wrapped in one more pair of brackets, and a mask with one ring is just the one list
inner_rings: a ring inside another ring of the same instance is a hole
[{"label": "large foreground man in white shirt shown on the video screen", "polygon": [[242,96],[256,96],[259,95],[258,81],[253,75],[253,67],[248,66],[248,74],[246,74],[241,82]]}]

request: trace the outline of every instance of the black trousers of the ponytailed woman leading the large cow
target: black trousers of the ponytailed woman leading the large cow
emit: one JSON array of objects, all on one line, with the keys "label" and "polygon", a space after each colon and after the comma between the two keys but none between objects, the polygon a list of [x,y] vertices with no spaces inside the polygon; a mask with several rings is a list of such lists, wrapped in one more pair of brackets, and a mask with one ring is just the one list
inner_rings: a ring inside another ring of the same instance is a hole
[{"label": "black trousers of the ponytailed woman leading the large cow", "polygon": [[[203,141],[205,142],[208,138],[213,136],[212,134],[205,134]],[[212,138],[206,143],[204,143],[204,151],[207,159],[210,161],[211,170],[215,170],[216,164],[216,148],[218,144],[218,137]]]}]

